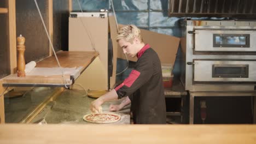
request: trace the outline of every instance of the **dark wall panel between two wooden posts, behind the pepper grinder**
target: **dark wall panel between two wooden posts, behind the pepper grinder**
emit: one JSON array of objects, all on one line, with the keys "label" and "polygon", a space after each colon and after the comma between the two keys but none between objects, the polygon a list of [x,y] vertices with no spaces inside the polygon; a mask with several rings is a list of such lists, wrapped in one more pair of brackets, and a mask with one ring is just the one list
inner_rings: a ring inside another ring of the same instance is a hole
[{"label": "dark wall panel between two wooden posts, behind the pepper grinder", "polygon": [[[48,1],[37,3],[48,28]],[[16,0],[16,34],[26,38],[26,63],[49,56],[49,40],[33,0]]]}]

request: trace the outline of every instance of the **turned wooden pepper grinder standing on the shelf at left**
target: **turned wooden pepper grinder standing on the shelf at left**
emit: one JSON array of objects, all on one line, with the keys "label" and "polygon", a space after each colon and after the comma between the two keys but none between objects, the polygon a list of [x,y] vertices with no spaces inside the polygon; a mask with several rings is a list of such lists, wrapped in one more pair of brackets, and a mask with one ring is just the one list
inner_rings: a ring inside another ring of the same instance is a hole
[{"label": "turned wooden pepper grinder standing on the shelf at left", "polygon": [[17,50],[19,52],[18,55],[18,61],[17,61],[17,73],[18,77],[24,77],[26,76],[25,73],[25,38],[20,35],[20,37],[17,38]]}]

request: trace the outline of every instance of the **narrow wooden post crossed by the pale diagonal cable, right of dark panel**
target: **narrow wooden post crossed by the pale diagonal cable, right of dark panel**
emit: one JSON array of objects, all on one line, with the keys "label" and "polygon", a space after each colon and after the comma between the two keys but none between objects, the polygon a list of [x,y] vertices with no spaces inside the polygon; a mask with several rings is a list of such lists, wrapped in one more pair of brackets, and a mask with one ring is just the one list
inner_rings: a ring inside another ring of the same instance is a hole
[{"label": "narrow wooden post crossed by the pale diagonal cable, right of dark panel", "polygon": [[[51,39],[51,43],[53,44],[53,0],[48,0],[48,19],[49,19],[49,36]],[[49,56],[53,55],[53,48],[49,43]]]}]

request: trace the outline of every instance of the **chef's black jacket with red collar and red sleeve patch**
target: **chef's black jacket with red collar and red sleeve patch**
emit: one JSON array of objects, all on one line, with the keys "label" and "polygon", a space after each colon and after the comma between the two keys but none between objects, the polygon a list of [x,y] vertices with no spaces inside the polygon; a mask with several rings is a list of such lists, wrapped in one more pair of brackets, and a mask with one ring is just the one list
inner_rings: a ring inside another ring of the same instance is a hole
[{"label": "chef's black jacket with red collar and red sleeve patch", "polygon": [[164,86],[158,54],[146,44],[138,53],[138,61],[119,86],[118,98],[129,95],[133,121],[137,124],[166,124]]}]

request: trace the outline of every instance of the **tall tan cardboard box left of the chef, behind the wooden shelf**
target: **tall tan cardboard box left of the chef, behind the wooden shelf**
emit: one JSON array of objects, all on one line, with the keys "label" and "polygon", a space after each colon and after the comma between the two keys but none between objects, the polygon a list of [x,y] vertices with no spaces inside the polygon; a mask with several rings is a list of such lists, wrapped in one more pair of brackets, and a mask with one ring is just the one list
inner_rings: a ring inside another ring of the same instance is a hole
[{"label": "tall tan cardboard box left of the chef, behind the wooden shelf", "polygon": [[117,69],[117,42],[113,35],[113,33],[117,33],[117,26],[114,17],[69,17],[69,51],[94,51],[92,49],[92,45],[94,45],[95,50],[100,53],[75,81],[86,89],[108,90],[109,32],[113,43],[113,73],[110,77],[109,87],[113,88]]}]

